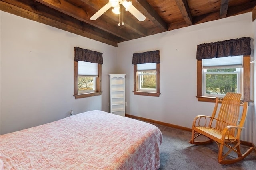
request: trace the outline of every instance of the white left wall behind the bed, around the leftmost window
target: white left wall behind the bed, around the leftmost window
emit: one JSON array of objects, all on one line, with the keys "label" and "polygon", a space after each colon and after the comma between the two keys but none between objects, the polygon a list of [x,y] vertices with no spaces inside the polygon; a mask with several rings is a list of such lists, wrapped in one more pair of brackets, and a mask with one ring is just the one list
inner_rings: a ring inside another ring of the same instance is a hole
[{"label": "white left wall behind the bed, around the leftmost window", "polygon": [[[116,47],[0,11],[0,134],[99,109],[109,111]],[[103,53],[102,95],[74,98],[74,47]]]}]

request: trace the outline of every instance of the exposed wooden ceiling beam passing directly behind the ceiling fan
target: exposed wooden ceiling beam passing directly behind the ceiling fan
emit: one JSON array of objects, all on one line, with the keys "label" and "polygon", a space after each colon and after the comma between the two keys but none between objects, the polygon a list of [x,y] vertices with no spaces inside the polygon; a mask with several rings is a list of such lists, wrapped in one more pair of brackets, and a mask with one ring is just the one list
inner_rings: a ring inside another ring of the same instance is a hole
[{"label": "exposed wooden ceiling beam passing directly behind the ceiling fan", "polygon": [[[88,4],[89,6],[94,8],[95,10],[100,10],[100,8],[101,8],[100,6],[93,3],[92,0],[81,0],[81,1]],[[109,16],[112,16],[112,12],[106,11],[103,15],[110,18]],[[112,17],[111,19],[116,21],[117,23],[119,22],[118,18]],[[125,24],[126,27],[128,27],[128,29],[134,31],[135,33],[138,33],[139,35],[142,35],[142,36],[147,36],[146,29],[144,27],[142,27],[140,24],[136,23],[133,19],[130,19],[130,18],[126,17],[125,21],[124,21],[124,24]]]}]

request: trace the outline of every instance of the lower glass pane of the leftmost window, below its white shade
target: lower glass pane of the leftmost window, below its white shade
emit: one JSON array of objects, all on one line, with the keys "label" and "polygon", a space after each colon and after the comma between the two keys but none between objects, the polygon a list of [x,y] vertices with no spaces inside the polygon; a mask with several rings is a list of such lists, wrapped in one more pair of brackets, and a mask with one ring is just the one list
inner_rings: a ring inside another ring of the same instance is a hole
[{"label": "lower glass pane of the leftmost window, below its white shade", "polygon": [[78,94],[96,91],[96,77],[78,76]]}]

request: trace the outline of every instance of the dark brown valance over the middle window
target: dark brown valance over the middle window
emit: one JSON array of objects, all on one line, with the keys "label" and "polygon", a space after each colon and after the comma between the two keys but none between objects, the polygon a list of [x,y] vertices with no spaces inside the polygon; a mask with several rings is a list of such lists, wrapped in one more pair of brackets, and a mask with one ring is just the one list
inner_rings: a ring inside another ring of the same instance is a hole
[{"label": "dark brown valance over the middle window", "polygon": [[132,64],[160,63],[160,51],[147,51],[144,53],[134,53]]}]

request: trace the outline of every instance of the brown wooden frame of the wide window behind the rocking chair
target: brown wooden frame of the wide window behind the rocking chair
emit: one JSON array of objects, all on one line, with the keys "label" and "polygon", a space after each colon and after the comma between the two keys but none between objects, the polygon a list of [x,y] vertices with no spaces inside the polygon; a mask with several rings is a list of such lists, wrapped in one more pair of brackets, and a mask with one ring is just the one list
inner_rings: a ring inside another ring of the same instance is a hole
[{"label": "brown wooden frame of the wide window behind the rocking chair", "polygon": [[[250,55],[243,56],[242,70],[242,100],[251,102],[250,100]],[[197,60],[197,96],[201,102],[215,102],[216,97],[202,96],[202,60]]]}]

